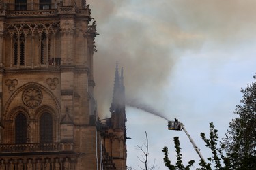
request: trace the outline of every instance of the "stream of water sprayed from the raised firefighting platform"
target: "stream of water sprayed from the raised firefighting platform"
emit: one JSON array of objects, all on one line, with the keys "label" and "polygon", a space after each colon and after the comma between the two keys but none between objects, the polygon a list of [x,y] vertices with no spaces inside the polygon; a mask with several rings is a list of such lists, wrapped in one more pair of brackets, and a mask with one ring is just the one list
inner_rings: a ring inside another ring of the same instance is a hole
[{"label": "stream of water sprayed from the raised firefighting platform", "polygon": [[141,109],[149,114],[154,114],[155,116],[158,116],[160,118],[163,118],[163,119],[169,121],[168,118],[165,117],[164,114],[158,112],[156,109],[150,107],[149,105],[139,103],[139,101],[137,101],[136,99],[126,101],[126,105],[128,105],[130,107],[134,107],[136,109]]}]

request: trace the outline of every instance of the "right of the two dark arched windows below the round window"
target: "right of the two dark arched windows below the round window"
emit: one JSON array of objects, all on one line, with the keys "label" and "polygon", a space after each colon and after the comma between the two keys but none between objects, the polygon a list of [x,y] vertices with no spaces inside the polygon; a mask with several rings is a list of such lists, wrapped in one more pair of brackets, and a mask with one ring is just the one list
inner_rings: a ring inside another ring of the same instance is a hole
[{"label": "right of the two dark arched windows below the round window", "polygon": [[45,112],[40,118],[40,143],[53,142],[53,118]]}]

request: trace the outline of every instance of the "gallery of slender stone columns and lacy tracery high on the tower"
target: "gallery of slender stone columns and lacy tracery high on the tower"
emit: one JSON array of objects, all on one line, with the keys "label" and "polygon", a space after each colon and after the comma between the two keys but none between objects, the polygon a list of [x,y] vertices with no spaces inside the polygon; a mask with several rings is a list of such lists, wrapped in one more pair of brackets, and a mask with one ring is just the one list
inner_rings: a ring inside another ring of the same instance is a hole
[{"label": "gallery of slender stone columns and lacy tracery high on the tower", "polygon": [[[10,46],[12,47],[9,54],[12,58],[10,66],[52,65],[55,63],[57,56],[55,43],[59,32],[59,22],[8,23],[5,32],[10,35]],[[27,46],[35,48],[31,50]]]}]

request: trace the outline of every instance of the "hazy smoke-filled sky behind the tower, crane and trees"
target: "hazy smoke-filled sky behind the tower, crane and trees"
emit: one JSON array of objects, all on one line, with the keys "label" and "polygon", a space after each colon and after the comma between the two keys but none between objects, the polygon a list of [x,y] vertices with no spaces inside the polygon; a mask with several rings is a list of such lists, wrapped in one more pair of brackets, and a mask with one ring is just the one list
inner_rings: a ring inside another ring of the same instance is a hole
[{"label": "hazy smoke-filled sky behind the tower, crane and trees", "polygon": [[[100,35],[94,54],[95,96],[101,118],[110,116],[115,63],[124,67],[126,99],[139,101],[186,126],[205,158],[199,134],[214,122],[224,137],[256,63],[256,1],[88,0]],[[160,169],[162,147],[175,160],[180,137],[184,164],[199,160],[183,131],[167,120],[126,107],[127,164],[139,169],[137,144],[150,142],[150,165]],[[175,161],[173,161],[175,163]],[[195,164],[197,166],[197,163]]]}]

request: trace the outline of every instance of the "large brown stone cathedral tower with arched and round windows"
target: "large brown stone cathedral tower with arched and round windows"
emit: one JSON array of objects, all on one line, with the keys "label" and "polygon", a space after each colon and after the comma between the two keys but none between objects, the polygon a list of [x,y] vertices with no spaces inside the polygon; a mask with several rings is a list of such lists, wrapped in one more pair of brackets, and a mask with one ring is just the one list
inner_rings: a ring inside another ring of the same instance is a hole
[{"label": "large brown stone cathedral tower with arched and round windows", "polygon": [[86,0],[0,0],[0,169],[106,169],[90,11]]}]

